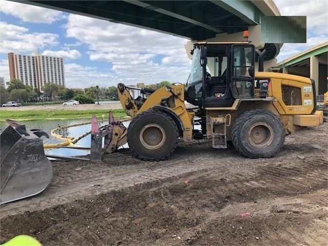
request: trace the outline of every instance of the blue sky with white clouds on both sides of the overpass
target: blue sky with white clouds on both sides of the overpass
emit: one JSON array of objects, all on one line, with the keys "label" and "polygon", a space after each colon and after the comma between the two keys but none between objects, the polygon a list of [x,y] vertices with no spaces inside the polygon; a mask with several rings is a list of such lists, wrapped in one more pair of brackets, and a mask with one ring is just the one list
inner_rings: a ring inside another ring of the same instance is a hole
[{"label": "blue sky with white clouds on both sides of the overpass", "polygon": [[[284,44],[278,62],[328,41],[328,2],[275,0],[282,15],[307,16],[307,43]],[[185,82],[185,39],[95,18],[0,0],[0,76],[8,52],[65,58],[66,86]]]}]

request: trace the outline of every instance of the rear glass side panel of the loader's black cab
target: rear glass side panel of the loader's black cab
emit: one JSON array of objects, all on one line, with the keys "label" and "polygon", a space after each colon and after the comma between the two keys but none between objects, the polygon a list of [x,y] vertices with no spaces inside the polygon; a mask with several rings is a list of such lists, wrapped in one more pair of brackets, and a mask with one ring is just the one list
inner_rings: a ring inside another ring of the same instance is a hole
[{"label": "rear glass side panel of the loader's black cab", "polygon": [[254,98],[254,45],[231,47],[230,89],[234,98]]}]

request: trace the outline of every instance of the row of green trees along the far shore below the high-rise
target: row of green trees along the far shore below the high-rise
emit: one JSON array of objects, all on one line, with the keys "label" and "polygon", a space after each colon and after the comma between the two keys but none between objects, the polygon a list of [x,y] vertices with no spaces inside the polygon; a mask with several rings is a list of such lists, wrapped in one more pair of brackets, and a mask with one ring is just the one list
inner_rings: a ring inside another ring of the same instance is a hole
[{"label": "row of green trees along the far shore below the high-rise", "polygon": [[[162,81],[157,84],[145,85],[147,88],[158,89],[162,86],[170,85],[168,81]],[[7,88],[0,86],[0,101],[4,104],[8,101],[17,102],[39,102],[39,101],[60,101],[76,100],[80,103],[94,103],[98,99],[118,100],[118,91],[116,86],[89,88],[66,88],[62,85],[47,83],[42,87],[42,92],[37,88],[33,89],[30,85],[24,85],[17,79],[6,83]],[[135,85],[130,85],[136,87]]]}]

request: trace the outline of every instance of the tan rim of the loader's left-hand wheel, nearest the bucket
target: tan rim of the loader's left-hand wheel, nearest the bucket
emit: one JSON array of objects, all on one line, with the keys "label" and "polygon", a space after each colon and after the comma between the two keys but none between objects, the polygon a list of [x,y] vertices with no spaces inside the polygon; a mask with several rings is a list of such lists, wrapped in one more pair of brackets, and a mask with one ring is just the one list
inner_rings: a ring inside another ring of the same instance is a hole
[{"label": "tan rim of the loader's left-hand wheel, nearest the bucket", "polygon": [[164,144],[166,134],[162,126],[148,124],[141,129],[139,139],[145,148],[157,149]]}]

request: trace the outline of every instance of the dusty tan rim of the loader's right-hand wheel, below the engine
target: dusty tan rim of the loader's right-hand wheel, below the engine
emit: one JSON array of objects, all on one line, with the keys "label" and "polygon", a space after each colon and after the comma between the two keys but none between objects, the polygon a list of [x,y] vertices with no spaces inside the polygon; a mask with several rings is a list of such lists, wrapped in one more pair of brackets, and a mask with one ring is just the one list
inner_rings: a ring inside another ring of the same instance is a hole
[{"label": "dusty tan rim of the loader's right-hand wheel, below the engine", "polygon": [[247,140],[254,147],[265,148],[272,143],[273,139],[273,129],[265,122],[257,122],[248,129]]}]

